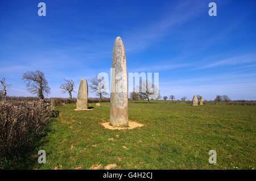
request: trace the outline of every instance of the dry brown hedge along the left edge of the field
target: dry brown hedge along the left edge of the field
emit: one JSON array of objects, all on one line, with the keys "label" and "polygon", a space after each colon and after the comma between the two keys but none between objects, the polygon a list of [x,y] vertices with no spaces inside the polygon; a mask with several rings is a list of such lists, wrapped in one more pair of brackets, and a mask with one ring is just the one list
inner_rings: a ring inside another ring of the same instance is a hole
[{"label": "dry brown hedge along the left edge of the field", "polygon": [[0,102],[0,158],[21,154],[24,146],[49,123],[49,110],[39,101]]}]

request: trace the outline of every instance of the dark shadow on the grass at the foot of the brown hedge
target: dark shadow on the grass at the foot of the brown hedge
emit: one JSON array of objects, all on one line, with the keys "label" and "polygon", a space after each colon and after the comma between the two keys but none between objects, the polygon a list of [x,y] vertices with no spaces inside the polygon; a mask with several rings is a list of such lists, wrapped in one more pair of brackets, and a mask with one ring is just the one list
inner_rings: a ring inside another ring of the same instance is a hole
[{"label": "dark shadow on the grass at the foot of the brown hedge", "polygon": [[54,132],[49,123],[41,132],[36,134],[29,144],[20,148],[19,153],[7,155],[5,159],[0,159],[0,169],[32,169],[32,166],[38,162],[38,148],[48,142],[46,138],[49,132]]}]

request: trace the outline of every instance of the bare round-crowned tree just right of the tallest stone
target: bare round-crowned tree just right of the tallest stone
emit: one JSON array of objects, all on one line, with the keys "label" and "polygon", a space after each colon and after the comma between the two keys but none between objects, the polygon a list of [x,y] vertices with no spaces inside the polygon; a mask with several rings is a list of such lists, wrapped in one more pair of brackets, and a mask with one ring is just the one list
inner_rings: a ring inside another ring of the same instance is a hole
[{"label": "bare round-crowned tree just right of the tallest stone", "polygon": [[[160,93],[155,92],[155,88],[158,89],[158,87],[155,87],[155,85],[149,81],[146,81],[144,79],[141,79],[139,86],[139,92],[138,96],[141,99],[146,99],[147,103],[150,103],[150,99],[159,99]],[[156,94],[155,94],[156,93]],[[157,94],[158,93],[158,94]]]}]

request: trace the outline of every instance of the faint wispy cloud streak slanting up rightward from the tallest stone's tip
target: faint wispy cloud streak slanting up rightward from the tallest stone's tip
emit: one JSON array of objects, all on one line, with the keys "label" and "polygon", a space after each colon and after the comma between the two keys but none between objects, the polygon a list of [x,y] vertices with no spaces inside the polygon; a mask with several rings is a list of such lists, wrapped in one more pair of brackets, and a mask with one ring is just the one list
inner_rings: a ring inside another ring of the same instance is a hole
[{"label": "faint wispy cloud streak slanting up rightward from the tallest stone's tip", "polygon": [[204,8],[200,1],[183,1],[178,5],[171,6],[164,18],[155,20],[150,25],[143,25],[124,36],[127,52],[142,50],[164,35],[170,35],[175,27],[196,18]]}]

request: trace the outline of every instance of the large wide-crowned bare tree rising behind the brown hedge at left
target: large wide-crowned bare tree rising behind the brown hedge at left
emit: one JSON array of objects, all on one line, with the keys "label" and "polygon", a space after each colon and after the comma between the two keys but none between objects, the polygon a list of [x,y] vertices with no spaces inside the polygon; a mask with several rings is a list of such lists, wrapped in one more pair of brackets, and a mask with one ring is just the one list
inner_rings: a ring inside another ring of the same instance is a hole
[{"label": "large wide-crowned bare tree rising behind the brown hedge at left", "polygon": [[27,71],[22,79],[26,83],[27,90],[32,94],[37,94],[40,99],[44,99],[44,93],[49,94],[50,88],[42,71]]}]

